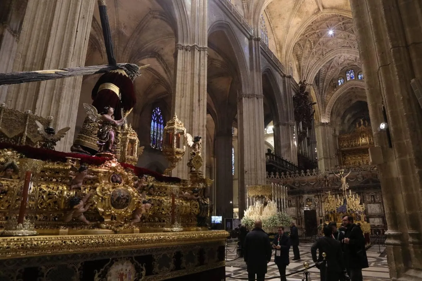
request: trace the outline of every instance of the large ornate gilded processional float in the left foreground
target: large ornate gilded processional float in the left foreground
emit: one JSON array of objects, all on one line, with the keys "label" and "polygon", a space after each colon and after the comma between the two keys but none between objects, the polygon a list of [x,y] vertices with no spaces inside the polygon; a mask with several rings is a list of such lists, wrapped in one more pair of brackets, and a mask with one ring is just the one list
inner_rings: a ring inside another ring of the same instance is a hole
[{"label": "large ornate gilded processional float in the left foreground", "polygon": [[[21,120],[11,131],[3,122],[14,118]],[[47,127],[52,119],[0,107],[0,268],[6,269],[0,279],[24,276],[27,266],[47,278],[63,263],[75,280],[82,274],[108,280],[116,270],[138,278],[127,280],[207,270],[214,270],[207,274],[215,278],[225,275],[227,232],[208,230],[213,181],[200,171],[200,146],[192,148],[188,181],[133,166],[143,148],[130,126],[122,130],[117,159],[37,148],[46,139],[35,120]],[[165,131],[173,130],[176,138],[165,148],[172,169],[185,152],[186,130],[176,116],[170,125]],[[25,262],[14,266],[7,261],[22,258]],[[81,267],[73,266],[75,259]],[[98,259],[104,262],[95,274],[82,269]]]}]

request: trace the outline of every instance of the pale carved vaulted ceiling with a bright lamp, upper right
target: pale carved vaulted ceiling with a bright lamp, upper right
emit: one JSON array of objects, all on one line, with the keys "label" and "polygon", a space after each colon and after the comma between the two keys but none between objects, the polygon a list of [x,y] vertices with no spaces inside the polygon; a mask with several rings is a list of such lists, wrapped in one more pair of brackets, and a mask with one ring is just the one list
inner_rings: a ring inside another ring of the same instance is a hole
[{"label": "pale carved vaulted ceiling with a bright lamp, upper right", "polygon": [[[319,112],[336,91],[333,81],[347,67],[360,68],[349,0],[246,0],[245,15],[271,19],[276,50],[284,65],[295,64],[301,80],[314,86]],[[332,30],[332,34],[330,34]]]}]

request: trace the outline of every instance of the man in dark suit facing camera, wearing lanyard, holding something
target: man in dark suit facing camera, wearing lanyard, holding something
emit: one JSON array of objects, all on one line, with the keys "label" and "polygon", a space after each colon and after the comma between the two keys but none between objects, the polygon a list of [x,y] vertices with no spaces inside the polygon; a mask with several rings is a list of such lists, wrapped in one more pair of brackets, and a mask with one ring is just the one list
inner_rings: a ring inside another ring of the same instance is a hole
[{"label": "man in dark suit facing camera, wearing lanyard, holding something", "polygon": [[286,279],[286,267],[289,265],[289,250],[290,250],[290,239],[284,235],[284,227],[278,228],[278,233],[274,236],[273,240],[274,251],[274,262],[279,268],[280,280],[287,281]]}]

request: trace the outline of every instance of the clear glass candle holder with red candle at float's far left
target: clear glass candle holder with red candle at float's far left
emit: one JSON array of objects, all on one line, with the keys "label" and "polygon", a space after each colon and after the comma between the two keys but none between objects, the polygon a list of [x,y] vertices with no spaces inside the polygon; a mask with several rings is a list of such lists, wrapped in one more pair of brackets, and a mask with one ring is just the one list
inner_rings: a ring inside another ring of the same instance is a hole
[{"label": "clear glass candle holder with red candle at float's far left", "polygon": [[38,174],[44,166],[41,160],[19,159],[20,177],[11,197],[8,222],[2,236],[38,235],[34,223],[38,206]]}]

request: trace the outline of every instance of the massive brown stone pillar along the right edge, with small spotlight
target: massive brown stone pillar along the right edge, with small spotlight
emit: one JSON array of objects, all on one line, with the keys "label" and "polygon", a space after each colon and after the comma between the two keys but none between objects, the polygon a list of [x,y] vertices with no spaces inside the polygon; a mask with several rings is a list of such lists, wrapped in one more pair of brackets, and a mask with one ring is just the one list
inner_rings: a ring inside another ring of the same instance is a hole
[{"label": "massive brown stone pillar along the right edge, with small spotlight", "polygon": [[[422,79],[420,0],[351,0],[388,230],[392,280],[422,279],[422,112],[411,88]],[[387,115],[384,120],[383,107]],[[391,145],[381,122],[389,124]]]}]

